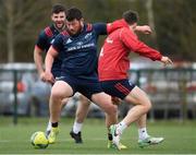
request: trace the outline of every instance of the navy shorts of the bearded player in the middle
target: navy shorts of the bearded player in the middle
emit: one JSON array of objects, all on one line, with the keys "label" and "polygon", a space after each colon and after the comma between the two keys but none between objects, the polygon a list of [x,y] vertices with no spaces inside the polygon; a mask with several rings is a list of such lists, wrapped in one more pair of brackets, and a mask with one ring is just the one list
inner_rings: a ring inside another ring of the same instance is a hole
[{"label": "navy shorts of the bearded player in the middle", "polygon": [[91,95],[103,92],[99,81],[88,81],[73,76],[57,78],[57,81],[66,82],[73,90],[73,95],[78,92],[91,100]]}]

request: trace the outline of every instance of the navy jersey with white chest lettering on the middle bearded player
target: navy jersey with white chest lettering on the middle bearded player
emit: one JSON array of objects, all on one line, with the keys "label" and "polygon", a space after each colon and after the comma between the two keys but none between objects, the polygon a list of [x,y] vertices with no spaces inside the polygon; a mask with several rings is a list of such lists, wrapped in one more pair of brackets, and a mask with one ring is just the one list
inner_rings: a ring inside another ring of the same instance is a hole
[{"label": "navy jersey with white chest lettering on the middle bearded player", "polygon": [[77,36],[70,36],[66,32],[57,36],[52,46],[62,57],[62,76],[97,81],[99,35],[107,35],[107,25],[103,23],[85,24]]}]

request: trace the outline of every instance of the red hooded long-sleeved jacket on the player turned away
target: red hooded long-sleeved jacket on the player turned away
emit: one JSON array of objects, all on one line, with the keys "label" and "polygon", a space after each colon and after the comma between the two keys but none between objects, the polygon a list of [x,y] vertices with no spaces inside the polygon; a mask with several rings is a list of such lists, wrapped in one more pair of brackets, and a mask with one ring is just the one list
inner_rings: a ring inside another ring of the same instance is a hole
[{"label": "red hooded long-sleeved jacket on the player turned away", "polygon": [[124,20],[113,24],[112,28],[108,26],[111,34],[106,38],[99,56],[99,81],[127,79],[131,51],[151,60],[161,60],[161,53],[138,40]]}]

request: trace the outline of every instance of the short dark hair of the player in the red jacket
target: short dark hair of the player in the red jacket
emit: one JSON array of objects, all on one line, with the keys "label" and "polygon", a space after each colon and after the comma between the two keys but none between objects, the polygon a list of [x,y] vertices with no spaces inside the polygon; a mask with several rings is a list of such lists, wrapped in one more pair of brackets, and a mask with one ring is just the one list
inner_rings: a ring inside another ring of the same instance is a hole
[{"label": "short dark hair of the player in the red jacket", "polygon": [[127,24],[137,23],[138,21],[137,12],[132,11],[132,10],[125,11],[122,17],[126,21]]}]

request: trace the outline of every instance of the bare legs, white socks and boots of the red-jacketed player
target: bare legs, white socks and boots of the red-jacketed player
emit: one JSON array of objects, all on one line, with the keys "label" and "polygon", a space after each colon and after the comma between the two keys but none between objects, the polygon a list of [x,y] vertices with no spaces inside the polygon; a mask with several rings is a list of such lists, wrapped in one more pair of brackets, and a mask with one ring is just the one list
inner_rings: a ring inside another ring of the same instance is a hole
[{"label": "bare legs, white socks and boots of the red-jacketed player", "polygon": [[[137,121],[139,131],[139,140],[138,145],[140,147],[148,146],[151,144],[159,144],[163,141],[163,138],[150,138],[146,131],[146,114],[151,107],[151,103],[147,97],[146,93],[142,91],[139,87],[134,87],[132,92],[125,97],[125,100],[134,104],[135,106],[130,109],[126,117],[118,124],[112,126],[111,132],[113,136],[113,143],[120,150],[120,138],[123,131],[134,121]],[[144,134],[143,134],[143,131]]]}]

